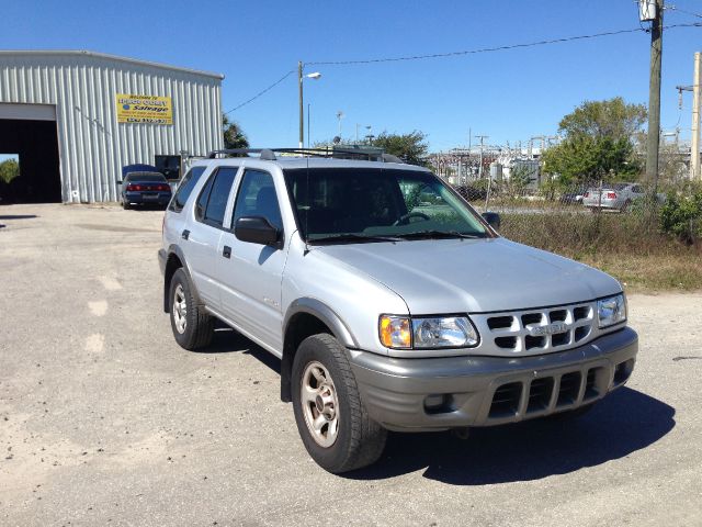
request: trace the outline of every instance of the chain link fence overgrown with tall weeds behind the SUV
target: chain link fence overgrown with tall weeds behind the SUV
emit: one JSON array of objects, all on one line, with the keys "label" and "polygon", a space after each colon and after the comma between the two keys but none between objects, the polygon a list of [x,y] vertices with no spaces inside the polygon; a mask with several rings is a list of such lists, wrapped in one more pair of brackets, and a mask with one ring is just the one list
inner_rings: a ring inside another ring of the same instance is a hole
[{"label": "chain link fence overgrown with tall weeds behind the SUV", "polygon": [[569,257],[702,245],[702,186],[690,181],[529,188],[484,179],[454,188],[478,212],[499,213],[503,236]]}]

